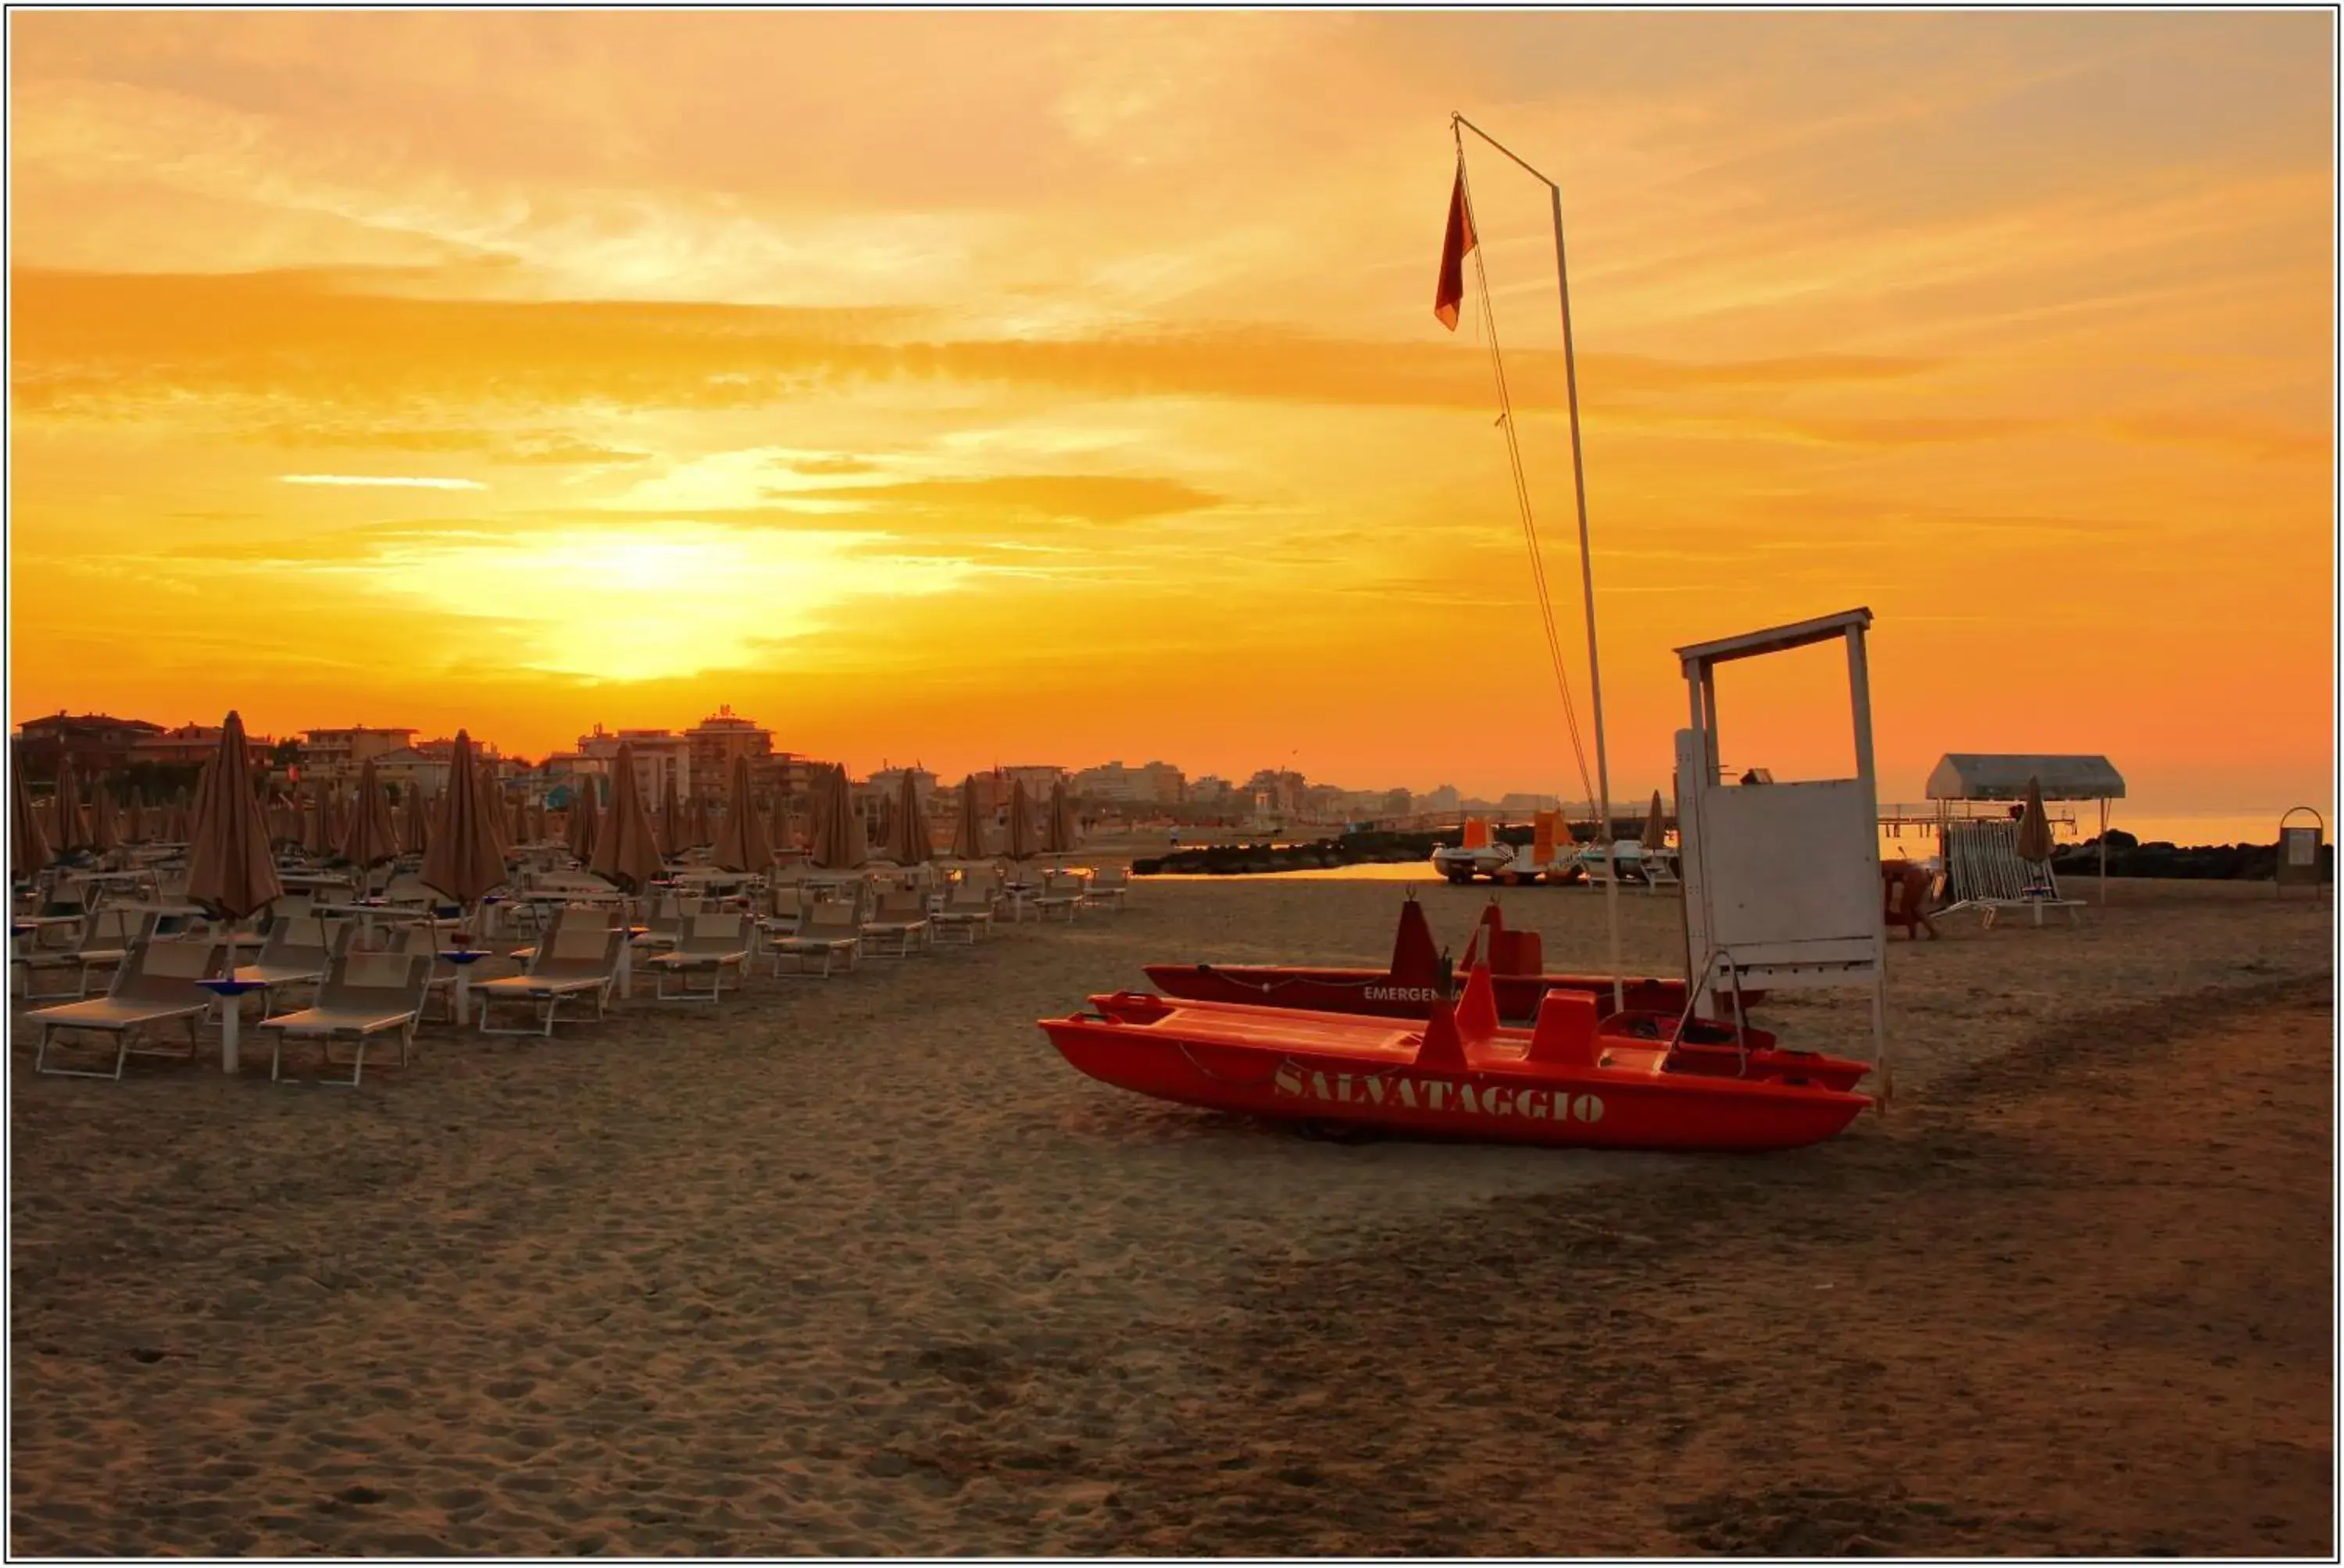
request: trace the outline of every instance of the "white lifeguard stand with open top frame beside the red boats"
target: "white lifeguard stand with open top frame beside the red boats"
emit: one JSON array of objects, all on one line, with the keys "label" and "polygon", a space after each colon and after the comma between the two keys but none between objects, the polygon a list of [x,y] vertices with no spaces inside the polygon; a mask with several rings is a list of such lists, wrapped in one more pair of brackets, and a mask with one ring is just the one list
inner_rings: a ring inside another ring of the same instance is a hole
[{"label": "white lifeguard stand with open top frame beside the red boats", "polygon": [[[1880,919],[1880,790],[1871,609],[1676,649],[1692,729],[1676,731],[1688,991],[1711,1017],[1742,1017],[1739,991],[1861,987],[1873,994],[1873,1062],[1887,1097],[1887,930]],[[1814,642],[1847,645],[1856,776],[1735,785],[1718,776],[1716,668]]]}]

